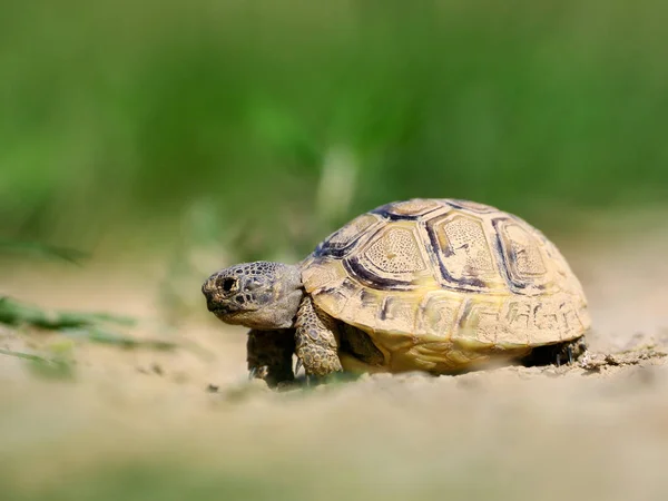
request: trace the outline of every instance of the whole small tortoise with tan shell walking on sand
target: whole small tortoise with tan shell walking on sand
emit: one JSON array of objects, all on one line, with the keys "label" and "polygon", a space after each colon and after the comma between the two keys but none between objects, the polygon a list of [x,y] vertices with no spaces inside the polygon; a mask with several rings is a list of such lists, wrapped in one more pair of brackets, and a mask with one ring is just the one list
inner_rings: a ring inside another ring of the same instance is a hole
[{"label": "whole small tortoise with tan shell walking on sand", "polygon": [[219,320],[250,328],[250,377],[273,386],[294,379],[293,354],[315,377],[572,362],[591,324],[552,242],[512,214],[461,199],[383,205],[298,264],[227,267],[203,293]]}]

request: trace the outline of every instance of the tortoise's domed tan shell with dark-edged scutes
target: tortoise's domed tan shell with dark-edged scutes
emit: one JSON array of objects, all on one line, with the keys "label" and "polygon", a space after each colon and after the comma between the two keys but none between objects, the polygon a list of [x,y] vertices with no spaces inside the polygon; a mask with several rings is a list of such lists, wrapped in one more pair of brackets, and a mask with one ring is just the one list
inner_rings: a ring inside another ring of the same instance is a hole
[{"label": "tortoise's domed tan shell with dark-edged scutes", "polygon": [[487,205],[411,199],[332,234],[303,264],[315,304],[373,340],[394,370],[450,370],[576,340],[582,287],[538,229]]}]

